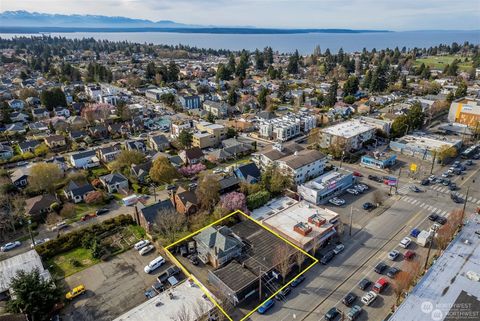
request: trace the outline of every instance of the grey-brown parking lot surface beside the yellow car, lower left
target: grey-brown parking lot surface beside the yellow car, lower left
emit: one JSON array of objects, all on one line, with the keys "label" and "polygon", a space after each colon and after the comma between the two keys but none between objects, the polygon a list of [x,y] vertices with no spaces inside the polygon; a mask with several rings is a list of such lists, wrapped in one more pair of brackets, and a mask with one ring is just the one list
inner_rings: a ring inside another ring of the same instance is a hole
[{"label": "grey-brown parking lot surface beside the yellow car, lower left", "polygon": [[[167,262],[152,274],[143,271],[145,265],[159,254],[150,252],[141,256],[129,250],[109,262],[99,263],[65,279],[71,289],[85,285],[86,293],[75,298],[64,309],[63,320],[110,321],[145,302],[146,289],[171,264]],[[67,292],[68,289],[65,290]]]}]

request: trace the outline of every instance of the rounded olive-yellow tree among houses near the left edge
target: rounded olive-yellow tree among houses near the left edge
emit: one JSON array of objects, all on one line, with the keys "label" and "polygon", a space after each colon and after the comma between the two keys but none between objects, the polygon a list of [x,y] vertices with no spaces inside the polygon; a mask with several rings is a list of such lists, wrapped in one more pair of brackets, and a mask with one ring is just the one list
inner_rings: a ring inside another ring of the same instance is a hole
[{"label": "rounded olive-yellow tree among houses near the left edge", "polygon": [[28,184],[35,192],[53,193],[57,184],[62,181],[63,171],[57,164],[37,163],[30,169]]}]

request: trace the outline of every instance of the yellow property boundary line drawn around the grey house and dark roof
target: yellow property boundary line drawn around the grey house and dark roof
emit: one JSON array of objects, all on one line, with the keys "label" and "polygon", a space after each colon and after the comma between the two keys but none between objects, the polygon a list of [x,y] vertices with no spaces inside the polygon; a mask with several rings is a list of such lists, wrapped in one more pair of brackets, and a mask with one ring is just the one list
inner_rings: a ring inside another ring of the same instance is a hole
[{"label": "yellow property boundary line drawn around the grey house and dark roof", "polygon": [[263,301],[262,303],[260,303],[257,307],[255,307],[252,311],[250,311],[249,313],[247,313],[247,315],[245,315],[242,319],[240,319],[239,321],[244,321],[246,320],[249,316],[251,316],[255,311],[257,311],[257,309],[259,307],[261,307],[263,304],[265,304],[265,302],[267,302],[268,300],[271,300],[273,299],[278,293],[280,293],[280,291],[282,291],[283,289],[285,289],[287,286],[290,285],[290,283],[292,283],[294,280],[296,280],[300,275],[304,274],[305,272],[307,272],[308,270],[310,270],[315,264],[318,263],[318,260],[313,257],[312,255],[308,254],[306,251],[304,251],[303,249],[299,248],[298,246],[296,246],[295,244],[293,244],[292,242],[290,242],[289,240],[285,239],[284,237],[280,236],[278,233],[272,231],[271,229],[269,229],[268,227],[264,226],[261,222],[257,221],[256,219],[253,219],[251,218],[249,215],[243,213],[242,211],[240,210],[236,210],[235,212],[232,212],[230,214],[228,214],[227,216],[224,216],[222,217],[221,219],[219,220],[216,220],[215,222],[213,223],[210,223],[208,224],[207,226],[199,229],[198,231],[196,232],[193,232],[183,238],[181,238],[180,240],[178,241],[175,241],[174,243],[168,245],[167,247],[165,247],[165,251],[167,252],[168,256],[170,257],[170,259],[175,262],[177,264],[177,266],[179,266],[182,271],[185,273],[185,275],[188,277],[188,278],[191,278],[195,284],[197,284],[197,286],[205,293],[205,295],[210,299],[211,302],[213,302],[213,304],[215,304],[215,306],[220,310],[222,311],[222,313],[228,318],[228,320],[230,321],[234,321],[226,312],[225,310],[220,306],[220,304],[213,298],[212,294],[210,293],[210,291],[200,282],[198,281],[198,279],[193,275],[191,274],[184,266],[183,264],[181,264],[177,258],[175,257],[175,255],[173,255],[173,253],[171,253],[168,249],[177,245],[178,243],[181,243],[195,235],[197,235],[198,233],[200,233],[201,231],[209,228],[210,226],[213,226],[213,225],[217,225],[219,224],[220,222],[230,218],[231,216],[233,215],[237,215],[237,214],[241,214],[243,215],[244,217],[248,218],[249,220],[251,220],[252,222],[255,222],[255,224],[259,225],[261,228],[269,231],[270,233],[272,233],[273,235],[275,235],[276,237],[280,238],[282,241],[286,242],[288,245],[294,247],[295,249],[297,249],[298,251],[300,251],[301,253],[303,253],[305,256],[307,256],[308,258],[312,259],[313,260],[313,263],[310,264],[307,268],[305,268],[303,271],[301,271],[295,278],[293,278],[292,280],[290,280],[290,282],[288,282],[287,284],[285,284],[284,286],[282,286],[280,289],[278,289],[278,291],[276,291],[275,293],[273,293],[270,297],[268,297],[267,299],[265,299],[265,301]]}]

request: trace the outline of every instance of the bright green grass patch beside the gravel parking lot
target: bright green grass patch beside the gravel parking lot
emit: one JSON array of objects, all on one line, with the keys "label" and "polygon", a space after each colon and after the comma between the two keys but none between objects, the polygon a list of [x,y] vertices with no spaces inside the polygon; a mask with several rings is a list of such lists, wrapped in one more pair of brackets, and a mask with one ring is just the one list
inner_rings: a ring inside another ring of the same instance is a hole
[{"label": "bright green grass patch beside the gravel parking lot", "polygon": [[65,278],[98,262],[100,260],[93,258],[90,250],[80,247],[53,257],[47,264],[56,277]]}]

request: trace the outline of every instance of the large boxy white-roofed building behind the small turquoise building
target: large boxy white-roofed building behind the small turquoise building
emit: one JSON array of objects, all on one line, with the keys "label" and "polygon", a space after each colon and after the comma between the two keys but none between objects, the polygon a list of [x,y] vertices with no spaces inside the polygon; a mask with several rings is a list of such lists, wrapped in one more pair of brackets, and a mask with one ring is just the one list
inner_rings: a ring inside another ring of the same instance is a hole
[{"label": "large boxy white-roofed building behind the small turquoise building", "polygon": [[377,127],[363,120],[351,120],[321,130],[320,146],[342,146],[346,150],[358,150],[363,143],[375,138]]}]

